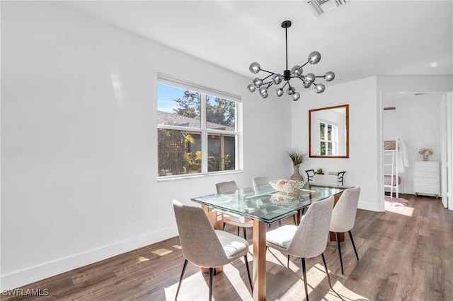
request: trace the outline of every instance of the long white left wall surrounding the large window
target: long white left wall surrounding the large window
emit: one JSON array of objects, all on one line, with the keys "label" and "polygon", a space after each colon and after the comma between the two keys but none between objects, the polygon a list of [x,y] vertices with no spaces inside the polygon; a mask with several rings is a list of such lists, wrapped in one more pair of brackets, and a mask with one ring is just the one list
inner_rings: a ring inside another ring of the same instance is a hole
[{"label": "long white left wall surrounding the large window", "polygon": [[[289,102],[56,2],[2,2],[1,63],[1,289],[173,237],[171,201],[215,182],[292,173]],[[157,181],[157,72],[243,95],[243,172]]]}]

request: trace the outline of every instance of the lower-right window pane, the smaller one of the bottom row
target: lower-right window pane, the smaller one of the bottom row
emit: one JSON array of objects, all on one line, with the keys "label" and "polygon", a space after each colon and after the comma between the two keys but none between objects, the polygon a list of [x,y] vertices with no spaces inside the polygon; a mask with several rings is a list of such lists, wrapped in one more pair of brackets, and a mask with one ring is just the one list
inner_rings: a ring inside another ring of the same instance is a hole
[{"label": "lower-right window pane, the smaller one of the bottom row", "polygon": [[234,136],[210,134],[207,140],[207,171],[234,170],[236,167]]}]

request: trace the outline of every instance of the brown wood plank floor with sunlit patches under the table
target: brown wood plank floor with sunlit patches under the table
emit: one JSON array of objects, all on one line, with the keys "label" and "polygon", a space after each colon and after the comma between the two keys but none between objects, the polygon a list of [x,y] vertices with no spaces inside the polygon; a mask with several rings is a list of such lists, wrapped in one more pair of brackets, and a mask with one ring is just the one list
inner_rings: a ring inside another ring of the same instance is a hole
[{"label": "brown wood plank floor with sunlit patches under the table", "polygon": [[[324,254],[335,291],[328,286],[321,258],[307,259],[310,300],[453,300],[453,211],[444,209],[440,199],[402,197],[408,206],[386,206],[383,213],[357,211],[352,234],[360,261],[346,235],[345,275],[336,242],[328,242]],[[236,232],[229,226],[226,230]],[[1,300],[174,300],[183,260],[178,237],[173,237],[23,287],[47,289],[47,297]],[[268,300],[304,300],[300,266],[293,258],[286,268],[284,255],[268,252]],[[207,300],[207,295],[207,275],[189,264],[178,300]],[[243,262],[214,276],[214,300],[251,300]]]}]

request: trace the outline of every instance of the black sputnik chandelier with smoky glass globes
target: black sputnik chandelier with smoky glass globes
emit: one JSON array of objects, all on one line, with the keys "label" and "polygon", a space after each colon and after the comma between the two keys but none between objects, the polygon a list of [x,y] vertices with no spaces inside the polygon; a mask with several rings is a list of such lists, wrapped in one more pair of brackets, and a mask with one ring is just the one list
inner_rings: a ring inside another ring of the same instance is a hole
[{"label": "black sputnik chandelier with smoky glass globes", "polygon": [[[299,78],[299,80],[302,81],[304,88],[309,88],[311,85],[314,85],[314,90],[316,91],[316,93],[323,93],[326,89],[326,86],[323,85],[323,83],[315,83],[316,78],[324,78],[326,81],[333,81],[333,78],[335,78],[335,73],[333,73],[332,71],[328,71],[326,74],[324,74],[324,76],[315,76],[313,73],[306,73],[306,75],[303,74],[302,68],[306,64],[310,63],[314,65],[318,64],[318,62],[321,61],[321,54],[317,51],[311,52],[311,54],[309,54],[308,61],[305,64],[303,64],[302,66],[296,65],[289,71],[287,35],[287,29],[289,27],[291,27],[291,21],[286,20],[282,22],[282,28],[285,28],[286,40],[286,70],[283,71],[283,75],[280,73],[261,69],[260,64],[256,62],[250,64],[250,67],[248,68],[253,74],[256,74],[260,71],[270,73],[265,78],[255,78],[253,82],[247,86],[247,90],[249,90],[250,92],[255,92],[256,90],[258,90],[258,93],[260,93],[262,98],[268,98],[268,88],[270,88],[271,85],[279,85],[280,83],[285,81],[285,84],[281,88],[277,88],[275,90],[275,95],[280,97],[285,94],[285,91],[283,89],[287,86],[286,93],[292,96],[292,100],[296,101],[299,100],[300,94],[299,92],[296,92],[294,86],[289,83],[291,78]],[[267,80],[268,78],[270,78],[270,81],[265,82],[265,80]]]}]

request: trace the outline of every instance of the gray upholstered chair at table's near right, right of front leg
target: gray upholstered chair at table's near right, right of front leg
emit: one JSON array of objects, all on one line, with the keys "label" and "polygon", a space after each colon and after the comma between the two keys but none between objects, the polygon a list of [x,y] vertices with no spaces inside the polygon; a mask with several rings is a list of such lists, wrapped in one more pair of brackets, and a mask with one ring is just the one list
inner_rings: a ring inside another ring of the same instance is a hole
[{"label": "gray upholstered chair at table's near right, right of front leg", "polygon": [[[288,256],[297,256],[302,261],[302,276],[304,277],[305,297],[309,300],[306,283],[305,259],[321,254],[328,284],[332,288],[331,278],[328,275],[324,250],[327,246],[328,228],[331,225],[333,196],[311,203],[308,211],[302,217],[299,226],[284,225],[266,234],[266,245],[277,249]],[[333,288],[332,288],[333,290]]]}]

